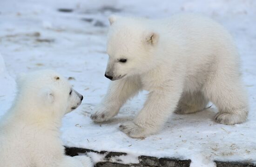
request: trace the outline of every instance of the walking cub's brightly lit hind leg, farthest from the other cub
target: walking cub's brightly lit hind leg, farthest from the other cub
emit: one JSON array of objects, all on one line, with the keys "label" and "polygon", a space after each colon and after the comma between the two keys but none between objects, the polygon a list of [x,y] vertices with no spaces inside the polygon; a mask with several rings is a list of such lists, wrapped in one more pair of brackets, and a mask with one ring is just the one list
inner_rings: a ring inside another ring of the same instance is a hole
[{"label": "walking cub's brightly lit hind leg, farthest from the other cub", "polygon": [[249,107],[246,91],[243,89],[240,78],[221,76],[211,79],[204,88],[205,96],[219,110],[215,120],[226,125],[243,123],[247,119]]}]

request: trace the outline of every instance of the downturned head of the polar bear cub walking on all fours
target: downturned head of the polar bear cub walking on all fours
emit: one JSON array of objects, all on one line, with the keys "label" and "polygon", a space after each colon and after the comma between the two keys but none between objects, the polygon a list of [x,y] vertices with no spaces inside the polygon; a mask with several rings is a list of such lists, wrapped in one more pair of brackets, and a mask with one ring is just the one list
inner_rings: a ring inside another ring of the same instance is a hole
[{"label": "downturned head of the polar bear cub walking on all fours", "polygon": [[154,68],[159,35],[148,28],[147,19],[111,16],[109,22],[105,77],[117,80]]}]

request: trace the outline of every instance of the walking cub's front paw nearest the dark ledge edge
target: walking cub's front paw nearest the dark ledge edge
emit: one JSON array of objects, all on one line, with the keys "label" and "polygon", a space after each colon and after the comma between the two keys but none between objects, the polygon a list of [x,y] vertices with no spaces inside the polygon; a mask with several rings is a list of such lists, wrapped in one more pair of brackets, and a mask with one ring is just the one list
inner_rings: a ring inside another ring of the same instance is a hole
[{"label": "walking cub's front paw nearest the dark ledge edge", "polygon": [[131,138],[144,138],[148,130],[136,125],[134,122],[125,122],[119,126],[120,130]]}]

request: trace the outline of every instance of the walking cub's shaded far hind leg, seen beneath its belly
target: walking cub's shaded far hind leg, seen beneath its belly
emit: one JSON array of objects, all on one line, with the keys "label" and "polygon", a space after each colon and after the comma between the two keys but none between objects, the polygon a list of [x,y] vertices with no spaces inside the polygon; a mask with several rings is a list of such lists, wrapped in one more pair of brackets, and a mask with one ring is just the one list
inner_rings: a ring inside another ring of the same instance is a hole
[{"label": "walking cub's shaded far hind leg, seen beneath its belly", "polygon": [[208,99],[203,96],[201,91],[183,92],[179,104],[175,110],[177,114],[190,114],[205,109],[209,103]]}]

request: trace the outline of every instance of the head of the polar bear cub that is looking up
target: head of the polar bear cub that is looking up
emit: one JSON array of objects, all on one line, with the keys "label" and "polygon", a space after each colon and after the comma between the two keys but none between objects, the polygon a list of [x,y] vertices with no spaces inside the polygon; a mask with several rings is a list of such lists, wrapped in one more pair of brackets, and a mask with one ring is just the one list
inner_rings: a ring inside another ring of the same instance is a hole
[{"label": "head of the polar bear cub that is looking up", "polygon": [[[23,113],[33,116],[61,117],[76,109],[83,96],[67,79],[52,70],[34,71],[17,78],[19,103]],[[15,104],[14,104],[15,105]]]}]

